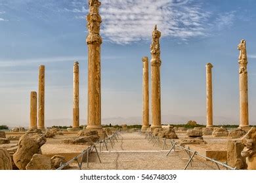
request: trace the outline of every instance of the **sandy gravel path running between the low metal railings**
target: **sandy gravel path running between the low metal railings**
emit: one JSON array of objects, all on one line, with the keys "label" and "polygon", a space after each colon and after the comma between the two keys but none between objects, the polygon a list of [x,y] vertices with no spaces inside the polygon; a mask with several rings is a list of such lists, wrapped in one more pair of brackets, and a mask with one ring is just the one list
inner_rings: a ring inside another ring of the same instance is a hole
[{"label": "sandy gravel path running between the low metal railings", "polygon": [[[189,159],[184,150],[176,149],[176,152],[172,151],[166,156],[169,150],[162,150],[162,144],[153,144],[140,133],[121,133],[121,139],[114,148],[109,144],[108,151],[104,148],[99,153],[102,163],[98,161],[96,153],[90,155],[89,169],[184,169]],[[72,169],[77,169],[75,163]],[[88,169],[86,163],[83,163],[82,169]],[[217,169],[217,165],[195,156],[192,167],[189,165],[187,169]]]}]

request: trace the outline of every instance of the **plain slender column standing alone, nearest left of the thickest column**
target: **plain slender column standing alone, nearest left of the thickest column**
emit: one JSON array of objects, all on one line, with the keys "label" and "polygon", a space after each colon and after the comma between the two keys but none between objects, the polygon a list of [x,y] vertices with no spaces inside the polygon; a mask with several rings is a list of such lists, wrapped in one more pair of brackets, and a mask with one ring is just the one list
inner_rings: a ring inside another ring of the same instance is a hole
[{"label": "plain slender column standing alone, nearest left of the thickest column", "polygon": [[73,129],[79,130],[79,63],[75,61],[73,69]]}]

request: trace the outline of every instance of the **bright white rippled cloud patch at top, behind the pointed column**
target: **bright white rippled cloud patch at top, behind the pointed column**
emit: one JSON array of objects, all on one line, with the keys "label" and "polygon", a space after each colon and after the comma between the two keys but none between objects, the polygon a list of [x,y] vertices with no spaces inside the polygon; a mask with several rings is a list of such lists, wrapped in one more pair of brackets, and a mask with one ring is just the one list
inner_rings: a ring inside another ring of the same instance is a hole
[{"label": "bright white rippled cloud patch at top, behind the pointed column", "polygon": [[163,37],[183,40],[205,36],[210,13],[186,0],[106,0],[100,7],[102,35],[108,41],[127,44],[150,39],[155,24]]}]

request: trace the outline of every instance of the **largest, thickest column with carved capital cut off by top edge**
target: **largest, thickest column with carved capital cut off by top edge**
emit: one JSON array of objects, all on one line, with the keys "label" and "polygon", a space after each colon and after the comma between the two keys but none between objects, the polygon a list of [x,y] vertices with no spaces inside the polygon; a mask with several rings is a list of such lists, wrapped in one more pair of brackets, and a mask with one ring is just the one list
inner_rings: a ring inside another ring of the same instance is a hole
[{"label": "largest, thickest column with carved capital cut off by top edge", "polygon": [[89,0],[87,15],[88,45],[88,106],[87,129],[102,129],[101,125],[101,91],[100,91],[100,23],[102,22],[98,8],[98,0]]}]

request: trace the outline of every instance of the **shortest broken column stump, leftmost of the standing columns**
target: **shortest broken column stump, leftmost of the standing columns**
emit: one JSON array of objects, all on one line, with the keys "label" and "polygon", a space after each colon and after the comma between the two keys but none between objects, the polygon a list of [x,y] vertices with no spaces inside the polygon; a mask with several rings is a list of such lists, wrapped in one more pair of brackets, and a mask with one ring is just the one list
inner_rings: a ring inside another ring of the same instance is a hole
[{"label": "shortest broken column stump, leftmost of the standing columns", "polygon": [[30,129],[37,129],[37,92],[30,92]]}]

